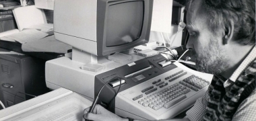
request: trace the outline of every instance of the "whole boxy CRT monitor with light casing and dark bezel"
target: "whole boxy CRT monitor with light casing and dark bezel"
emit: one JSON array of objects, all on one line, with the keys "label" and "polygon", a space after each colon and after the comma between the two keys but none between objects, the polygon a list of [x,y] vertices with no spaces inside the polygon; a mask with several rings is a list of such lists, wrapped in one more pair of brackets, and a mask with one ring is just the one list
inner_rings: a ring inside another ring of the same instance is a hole
[{"label": "whole boxy CRT monitor with light casing and dark bezel", "polygon": [[153,0],[55,0],[55,38],[96,56],[145,44]]}]

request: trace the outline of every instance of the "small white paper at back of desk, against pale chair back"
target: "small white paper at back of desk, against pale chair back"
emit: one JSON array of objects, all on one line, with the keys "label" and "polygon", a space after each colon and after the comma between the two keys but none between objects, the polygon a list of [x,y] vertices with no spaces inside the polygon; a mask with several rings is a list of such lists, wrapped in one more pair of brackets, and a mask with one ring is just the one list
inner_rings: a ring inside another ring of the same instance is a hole
[{"label": "small white paper at back of desk, against pale chair back", "polygon": [[27,30],[27,29],[36,29],[36,30],[40,30],[41,32],[49,32],[53,30],[53,24],[36,24],[28,28],[24,28],[24,30]]}]

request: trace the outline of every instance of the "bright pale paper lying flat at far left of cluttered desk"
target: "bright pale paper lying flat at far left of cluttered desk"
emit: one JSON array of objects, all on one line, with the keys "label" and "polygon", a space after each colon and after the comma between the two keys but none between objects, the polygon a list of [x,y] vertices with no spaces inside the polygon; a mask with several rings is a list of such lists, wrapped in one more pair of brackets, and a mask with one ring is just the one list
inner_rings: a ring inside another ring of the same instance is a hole
[{"label": "bright pale paper lying flat at far left of cluttered desk", "polygon": [[20,42],[21,44],[24,44],[26,42],[32,42],[35,40],[39,40],[46,36],[48,36],[48,34],[46,34],[44,32],[40,32],[38,30],[23,30],[22,32],[11,34],[11,35],[5,36],[5,37],[11,38],[13,40]]}]

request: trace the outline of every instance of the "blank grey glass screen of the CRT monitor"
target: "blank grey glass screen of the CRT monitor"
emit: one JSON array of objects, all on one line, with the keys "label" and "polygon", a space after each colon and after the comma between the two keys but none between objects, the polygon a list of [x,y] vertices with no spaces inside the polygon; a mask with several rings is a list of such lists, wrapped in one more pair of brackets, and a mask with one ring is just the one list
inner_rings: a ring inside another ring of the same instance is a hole
[{"label": "blank grey glass screen of the CRT monitor", "polygon": [[106,18],[106,47],[133,42],[141,35],[143,1],[110,5]]}]

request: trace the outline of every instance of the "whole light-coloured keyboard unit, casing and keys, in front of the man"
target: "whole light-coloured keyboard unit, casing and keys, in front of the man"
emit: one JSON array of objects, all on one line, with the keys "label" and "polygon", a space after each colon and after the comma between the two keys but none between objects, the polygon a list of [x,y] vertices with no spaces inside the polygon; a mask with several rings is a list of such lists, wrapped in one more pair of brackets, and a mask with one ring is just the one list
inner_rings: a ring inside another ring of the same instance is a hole
[{"label": "whole light-coloured keyboard unit, casing and keys, in front of the man", "polygon": [[173,118],[193,106],[211,80],[212,77],[200,77],[179,67],[172,69],[120,92],[116,114],[142,120]]}]

